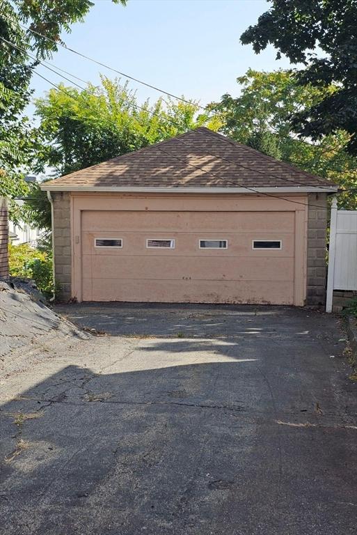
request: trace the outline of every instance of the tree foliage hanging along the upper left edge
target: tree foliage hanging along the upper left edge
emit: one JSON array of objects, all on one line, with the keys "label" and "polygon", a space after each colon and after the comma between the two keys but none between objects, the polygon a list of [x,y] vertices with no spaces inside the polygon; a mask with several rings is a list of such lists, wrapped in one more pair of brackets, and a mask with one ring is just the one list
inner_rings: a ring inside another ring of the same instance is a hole
[{"label": "tree foliage hanging along the upper left edge", "polygon": [[[24,171],[32,168],[34,154],[42,150],[38,132],[24,116],[37,64],[26,52],[38,59],[51,57],[61,32],[82,22],[93,5],[89,0],[0,0],[0,196],[12,199],[31,192]],[[17,219],[18,207],[11,203],[10,208]]]}]

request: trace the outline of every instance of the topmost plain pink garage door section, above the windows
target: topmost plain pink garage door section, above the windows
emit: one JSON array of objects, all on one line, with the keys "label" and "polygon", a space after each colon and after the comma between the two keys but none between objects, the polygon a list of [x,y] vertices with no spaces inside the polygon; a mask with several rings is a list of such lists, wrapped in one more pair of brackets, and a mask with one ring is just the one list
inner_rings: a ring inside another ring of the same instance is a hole
[{"label": "topmost plain pink garage door section, above the windows", "polygon": [[84,211],[83,231],[294,231],[294,212]]}]

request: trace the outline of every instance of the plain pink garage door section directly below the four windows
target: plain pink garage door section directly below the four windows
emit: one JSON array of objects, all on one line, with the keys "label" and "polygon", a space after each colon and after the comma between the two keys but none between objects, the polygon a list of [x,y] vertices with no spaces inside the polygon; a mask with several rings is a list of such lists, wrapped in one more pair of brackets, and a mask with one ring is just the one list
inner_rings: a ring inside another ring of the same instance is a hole
[{"label": "plain pink garage door section directly below the four windows", "polygon": [[248,280],[293,281],[292,258],[205,258],[184,257],[177,262],[175,257],[164,259],[157,256],[85,256],[91,262],[93,273],[104,279],[193,279],[193,280]]}]

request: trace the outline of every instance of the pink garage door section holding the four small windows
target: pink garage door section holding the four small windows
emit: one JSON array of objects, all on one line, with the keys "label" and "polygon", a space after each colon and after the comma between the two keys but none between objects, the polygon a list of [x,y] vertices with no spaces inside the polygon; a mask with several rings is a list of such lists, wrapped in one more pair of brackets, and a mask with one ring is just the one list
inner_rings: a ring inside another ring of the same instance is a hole
[{"label": "pink garage door section holding the four small windows", "polygon": [[[95,238],[120,238],[122,247],[94,247]],[[174,239],[175,249],[148,249],[146,240],[148,238]],[[201,233],[177,233],[177,232],[84,232],[82,236],[83,254],[94,254],[100,256],[116,255],[136,255],[146,254],[147,256],[251,256],[252,258],[273,256],[273,257],[293,257],[294,256],[294,234],[287,232],[267,233],[228,233],[228,232],[201,232]],[[228,240],[228,249],[200,249],[199,240]],[[281,249],[253,249],[253,240],[281,240]]]}]

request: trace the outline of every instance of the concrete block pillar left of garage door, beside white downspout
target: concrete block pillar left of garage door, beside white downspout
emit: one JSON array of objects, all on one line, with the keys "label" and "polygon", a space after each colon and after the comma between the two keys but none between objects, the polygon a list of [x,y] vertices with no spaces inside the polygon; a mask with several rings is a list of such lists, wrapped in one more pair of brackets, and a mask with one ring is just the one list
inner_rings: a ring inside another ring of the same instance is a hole
[{"label": "concrete block pillar left of garage door, beside white downspout", "polygon": [[56,281],[60,284],[56,295],[59,300],[71,297],[71,238],[70,194],[53,193],[54,200],[54,265]]}]

